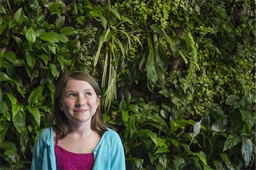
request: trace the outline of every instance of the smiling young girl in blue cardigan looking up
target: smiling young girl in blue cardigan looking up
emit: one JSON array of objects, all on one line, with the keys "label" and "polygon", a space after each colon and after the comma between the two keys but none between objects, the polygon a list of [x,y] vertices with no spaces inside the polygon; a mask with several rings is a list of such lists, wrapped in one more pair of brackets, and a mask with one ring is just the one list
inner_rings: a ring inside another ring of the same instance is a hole
[{"label": "smiling young girl in blue cardigan looking up", "polygon": [[100,104],[100,87],[92,76],[81,71],[61,76],[51,127],[39,136],[31,169],[125,169],[121,138],[106,128]]}]

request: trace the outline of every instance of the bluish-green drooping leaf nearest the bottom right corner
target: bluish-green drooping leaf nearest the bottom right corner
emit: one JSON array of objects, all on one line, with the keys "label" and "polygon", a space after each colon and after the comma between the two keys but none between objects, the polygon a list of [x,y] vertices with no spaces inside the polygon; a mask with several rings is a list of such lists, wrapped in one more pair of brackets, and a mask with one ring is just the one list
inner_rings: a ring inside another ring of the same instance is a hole
[{"label": "bluish-green drooping leaf nearest the bottom right corner", "polygon": [[251,155],[253,154],[253,142],[248,137],[242,137],[242,148],[241,148],[243,160],[245,160],[245,167],[248,167]]}]

